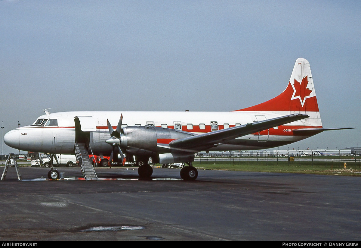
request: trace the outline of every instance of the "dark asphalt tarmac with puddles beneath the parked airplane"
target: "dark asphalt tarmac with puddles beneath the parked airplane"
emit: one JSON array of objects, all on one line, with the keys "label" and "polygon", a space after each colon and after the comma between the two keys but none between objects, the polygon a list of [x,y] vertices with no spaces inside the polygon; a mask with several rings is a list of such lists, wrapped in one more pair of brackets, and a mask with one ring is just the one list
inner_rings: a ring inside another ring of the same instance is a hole
[{"label": "dark asphalt tarmac with puddles beneath the parked airplane", "polygon": [[[4,167],[0,167],[2,173]],[[0,181],[0,240],[361,240],[361,177],[199,169],[10,167]],[[42,178],[44,177],[44,178]]]}]

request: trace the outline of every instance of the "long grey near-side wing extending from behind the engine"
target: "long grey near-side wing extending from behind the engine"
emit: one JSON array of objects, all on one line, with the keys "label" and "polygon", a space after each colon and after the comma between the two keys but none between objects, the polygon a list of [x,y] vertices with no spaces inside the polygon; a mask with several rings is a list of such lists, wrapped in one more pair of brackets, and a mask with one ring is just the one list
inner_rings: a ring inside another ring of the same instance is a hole
[{"label": "long grey near-side wing extending from behind the engine", "polygon": [[173,140],[169,143],[171,149],[204,149],[205,147],[214,147],[219,143],[227,142],[238,137],[263,131],[265,129],[273,128],[279,125],[291,123],[293,121],[308,118],[305,114],[292,114],[281,117],[276,117],[269,120],[257,121],[242,126],[231,127],[213,131],[209,133],[199,134],[187,138]]}]

